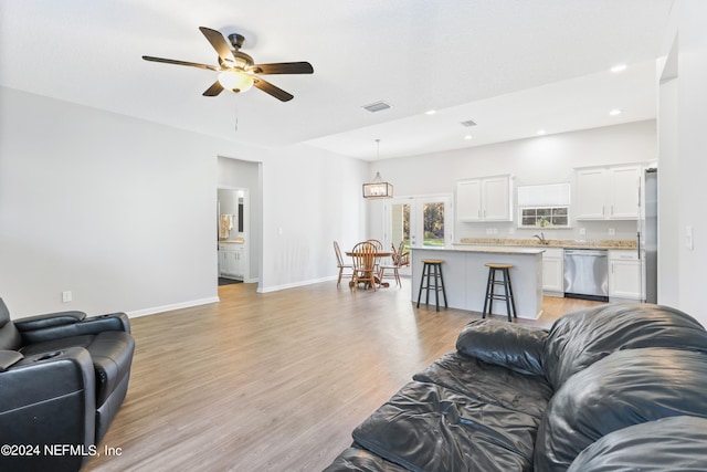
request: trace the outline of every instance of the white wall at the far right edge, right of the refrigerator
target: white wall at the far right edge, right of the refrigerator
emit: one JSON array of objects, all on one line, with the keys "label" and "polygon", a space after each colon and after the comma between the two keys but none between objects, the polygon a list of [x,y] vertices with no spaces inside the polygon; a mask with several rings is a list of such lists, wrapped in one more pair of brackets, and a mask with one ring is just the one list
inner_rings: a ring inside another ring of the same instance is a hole
[{"label": "white wall at the far right edge, right of the refrigerator", "polygon": [[[707,221],[705,204],[705,153],[707,150],[707,2],[677,0],[664,36],[664,70],[672,78],[661,86],[658,117],[661,155],[658,166],[668,168],[668,178],[658,174],[659,240],[658,303],[671,304],[707,326],[704,297],[707,266]],[[672,55],[671,55],[672,52]],[[676,65],[674,64],[676,62]],[[663,75],[663,74],[661,74]],[[661,218],[661,217],[659,217]],[[694,245],[686,232],[693,229]],[[669,271],[668,269],[669,264]],[[671,283],[665,283],[671,277]],[[663,283],[661,283],[663,281]]]}]

